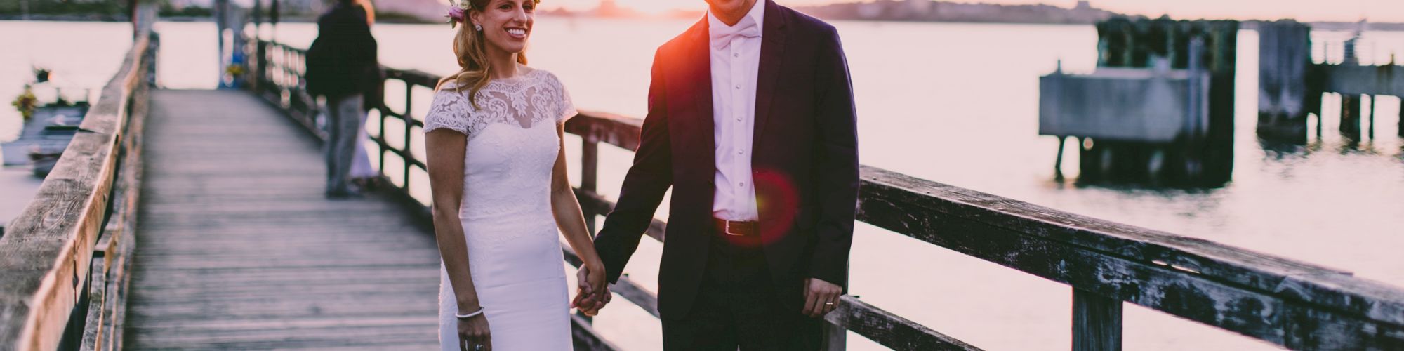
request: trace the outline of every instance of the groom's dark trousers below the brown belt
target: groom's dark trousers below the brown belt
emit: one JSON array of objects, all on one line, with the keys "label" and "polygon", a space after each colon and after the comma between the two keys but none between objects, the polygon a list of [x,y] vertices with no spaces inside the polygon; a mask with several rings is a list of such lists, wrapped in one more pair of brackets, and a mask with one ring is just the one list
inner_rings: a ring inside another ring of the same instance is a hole
[{"label": "groom's dark trousers below the brown belt", "polygon": [[[715,232],[715,230],[713,230]],[[687,316],[663,319],[663,348],[819,350],[820,320],[785,309],[757,237],[713,234],[706,274]]]}]

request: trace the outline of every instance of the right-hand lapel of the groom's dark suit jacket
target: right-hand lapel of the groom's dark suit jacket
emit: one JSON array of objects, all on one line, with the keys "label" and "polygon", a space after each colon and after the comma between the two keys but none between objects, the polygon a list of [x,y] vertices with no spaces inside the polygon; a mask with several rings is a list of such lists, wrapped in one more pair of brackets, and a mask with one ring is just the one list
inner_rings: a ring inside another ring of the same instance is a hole
[{"label": "right-hand lapel of the groom's dark suit jacket", "polygon": [[761,66],[755,77],[755,131],[751,135],[751,149],[755,152],[761,152],[761,133],[771,117],[771,104],[781,77],[781,58],[785,56],[785,14],[774,0],[765,0],[764,21]]}]

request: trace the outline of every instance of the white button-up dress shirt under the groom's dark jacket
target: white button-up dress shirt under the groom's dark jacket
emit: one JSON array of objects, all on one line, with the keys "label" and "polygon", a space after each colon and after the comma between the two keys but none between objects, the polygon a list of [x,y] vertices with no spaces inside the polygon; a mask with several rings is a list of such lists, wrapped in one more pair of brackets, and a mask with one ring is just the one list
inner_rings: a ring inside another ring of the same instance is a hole
[{"label": "white button-up dress shirt under the groom's dark jacket", "polygon": [[734,27],[726,25],[710,11],[706,18],[716,140],[712,215],[726,220],[757,220],[760,215],[755,209],[755,184],[751,184],[751,139],[755,133],[755,76],[761,66],[765,1],[755,1]]}]

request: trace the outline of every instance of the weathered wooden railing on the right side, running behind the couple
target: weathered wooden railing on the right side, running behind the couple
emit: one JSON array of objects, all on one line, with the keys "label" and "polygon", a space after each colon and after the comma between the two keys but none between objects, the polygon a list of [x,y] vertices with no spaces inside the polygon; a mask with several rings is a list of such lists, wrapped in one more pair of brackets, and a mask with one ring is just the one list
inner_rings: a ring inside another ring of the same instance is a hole
[{"label": "weathered wooden railing on the right side, running behind the couple", "polygon": [[[278,44],[282,52],[267,55],[270,67],[260,74],[267,97],[300,94],[296,79],[270,79],[278,72],[300,72],[300,51]],[[286,62],[272,62],[293,58]],[[372,136],[386,156],[402,157],[403,168],[382,170],[404,198],[416,198],[409,187],[411,171],[424,164],[410,152],[411,136],[421,126],[410,117],[410,91],[432,88],[437,77],[423,72],[386,69],[388,80],[406,86],[403,111],[379,105],[379,135]],[[281,81],[281,83],[279,83]],[[281,105],[293,115],[289,98]],[[309,100],[310,101],[310,100]],[[403,125],[404,138],[392,147],[385,142],[386,121]],[[305,122],[305,125],[314,125]],[[639,146],[642,119],[581,112],[566,124],[578,135],[581,177],[576,194],[594,232],[594,219],[609,213],[614,204],[595,192],[598,145],[626,150]],[[1026,274],[1061,282],[1073,289],[1074,350],[1120,350],[1122,302],[1220,327],[1252,338],[1296,350],[1404,350],[1404,289],[1349,272],[1230,247],[1209,240],[1120,225],[1067,213],[1022,201],[863,166],[861,170],[858,220],[966,256],[1005,265]],[[427,199],[413,202],[425,213]],[[654,219],[647,234],[664,240],[667,223]],[[580,258],[566,249],[566,258]],[[619,279],[612,291],[658,316],[657,298],[630,281]],[[844,296],[826,322],[894,350],[977,350],[953,337],[907,320],[858,298]],[[614,350],[576,319],[577,343],[595,350]],[[828,333],[828,350],[842,348],[842,333]]]}]

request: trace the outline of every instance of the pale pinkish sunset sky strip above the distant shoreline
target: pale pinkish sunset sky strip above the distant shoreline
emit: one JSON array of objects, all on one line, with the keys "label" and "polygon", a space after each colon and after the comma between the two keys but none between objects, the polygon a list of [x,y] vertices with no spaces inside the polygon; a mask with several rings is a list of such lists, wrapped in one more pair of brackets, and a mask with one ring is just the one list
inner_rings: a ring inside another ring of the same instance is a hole
[{"label": "pale pinkish sunset sky strip above the distant shoreline", "polygon": [[[615,0],[619,6],[646,13],[673,8],[702,10],[705,0]],[[778,0],[785,6],[824,4],[834,0]],[[854,0],[841,0],[854,1]],[[1046,3],[1073,7],[1077,0],[955,0],[962,3],[1036,4]],[[543,8],[594,8],[600,0],[542,0]],[[1404,22],[1404,0],[1092,0],[1092,6],[1125,14],[1144,14],[1174,18],[1226,18],[1300,21],[1359,21]]]}]

